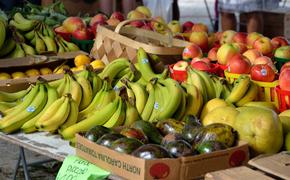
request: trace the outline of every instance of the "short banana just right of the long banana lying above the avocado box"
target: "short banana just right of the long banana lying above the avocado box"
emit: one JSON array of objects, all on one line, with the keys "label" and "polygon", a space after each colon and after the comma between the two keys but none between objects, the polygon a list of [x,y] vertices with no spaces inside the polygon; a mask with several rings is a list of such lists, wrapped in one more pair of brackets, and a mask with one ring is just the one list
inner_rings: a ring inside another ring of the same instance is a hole
[{"label": "short banana just right of the long banana lying above the avocado box", "polygon": [[125,106],[124,102],[122,101],[121,98],[119,99],[119,104],[117,107],[117,110],[115,113],[112,115],[112,117],[105,123],[103,124],[104,127],[107,128],[113,128],[113,127],[118,127],[123,125],[125,117],[126,117],[126,111],[125,111]]}]

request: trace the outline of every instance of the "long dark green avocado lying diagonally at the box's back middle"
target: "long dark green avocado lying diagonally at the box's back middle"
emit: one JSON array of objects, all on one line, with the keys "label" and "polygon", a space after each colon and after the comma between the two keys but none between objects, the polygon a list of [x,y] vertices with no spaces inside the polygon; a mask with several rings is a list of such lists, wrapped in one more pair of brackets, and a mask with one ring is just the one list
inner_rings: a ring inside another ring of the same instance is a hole
[{"label": "long dark green avocado lying diagonally at the box's back middle", "polygon": [[147,121],[135,121],[130,127],[143,131],[151,143],[160,144],[162,141],[163,136],[160,134],[158,129]]}]

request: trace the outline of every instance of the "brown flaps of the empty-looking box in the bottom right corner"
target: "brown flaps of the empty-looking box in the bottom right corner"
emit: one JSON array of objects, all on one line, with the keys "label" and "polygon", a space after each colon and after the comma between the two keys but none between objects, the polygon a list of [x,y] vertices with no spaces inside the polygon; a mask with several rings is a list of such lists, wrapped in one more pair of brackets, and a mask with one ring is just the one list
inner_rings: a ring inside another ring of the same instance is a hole
[{"label": "brown flaps of the empty-looking box in the bottom right corner", "polygon": [[281,152],[274,155],[262,155],[249,161],[250,166],[236,167],[210,172],[205,180],[274,180],[290,179],[290,153]]}]

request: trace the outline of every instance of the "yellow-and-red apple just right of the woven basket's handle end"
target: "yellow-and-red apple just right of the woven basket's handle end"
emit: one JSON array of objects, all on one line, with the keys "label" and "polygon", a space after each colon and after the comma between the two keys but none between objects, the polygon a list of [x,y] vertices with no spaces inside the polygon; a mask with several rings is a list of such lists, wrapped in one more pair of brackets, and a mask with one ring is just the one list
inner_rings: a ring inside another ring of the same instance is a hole
[{"label": "yellow-and-red apple just right of the woven basket's handle end", "polygon": [[203,52],[208,51],[208,37],[204,31],[193,31],[190,35],[189,41],[198,45]]}]

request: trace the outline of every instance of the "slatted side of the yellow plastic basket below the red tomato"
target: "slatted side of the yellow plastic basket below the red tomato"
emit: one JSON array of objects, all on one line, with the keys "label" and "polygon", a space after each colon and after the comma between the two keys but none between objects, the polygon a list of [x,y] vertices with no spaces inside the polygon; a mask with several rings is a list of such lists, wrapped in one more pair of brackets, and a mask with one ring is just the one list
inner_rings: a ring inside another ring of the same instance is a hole
[{"label": "slatted side of the yellow plastic basket below the red tomato", "polygon": [[254,81],[255,84],[258,85],[258,100],[259,101],[267,101],[272,102],[275,104],[275,106],[278,108],[278,95],[276,93],[275,88],[278,86],[279,81],[273,81],[273,82],[261,82],[261,81]]}]

